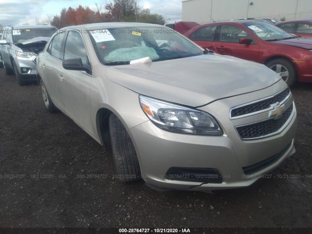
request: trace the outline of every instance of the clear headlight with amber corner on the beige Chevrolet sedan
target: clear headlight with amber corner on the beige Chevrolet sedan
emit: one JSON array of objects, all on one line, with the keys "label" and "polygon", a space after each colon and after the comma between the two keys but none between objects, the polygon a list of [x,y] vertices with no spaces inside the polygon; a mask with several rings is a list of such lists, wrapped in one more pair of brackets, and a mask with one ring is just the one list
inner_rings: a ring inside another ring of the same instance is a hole
[{"label": "clear headlight with amber corner on the beige Chevrolet sedan", "polygon": [[159,128],[183,134],[221,136],[214,117],[196,109],[140,96],[144,113]]}]

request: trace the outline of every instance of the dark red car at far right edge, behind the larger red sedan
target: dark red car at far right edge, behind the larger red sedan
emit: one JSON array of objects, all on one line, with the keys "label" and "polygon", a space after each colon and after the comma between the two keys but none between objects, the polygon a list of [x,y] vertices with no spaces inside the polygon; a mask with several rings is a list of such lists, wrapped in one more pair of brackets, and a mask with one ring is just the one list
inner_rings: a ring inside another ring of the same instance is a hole
[{"label": "dark red car at far right edge, behind the larger red sedan", "polygon": [[298,37],[312,38],[312,19],[287,20],[277,23],[275,26]]}]

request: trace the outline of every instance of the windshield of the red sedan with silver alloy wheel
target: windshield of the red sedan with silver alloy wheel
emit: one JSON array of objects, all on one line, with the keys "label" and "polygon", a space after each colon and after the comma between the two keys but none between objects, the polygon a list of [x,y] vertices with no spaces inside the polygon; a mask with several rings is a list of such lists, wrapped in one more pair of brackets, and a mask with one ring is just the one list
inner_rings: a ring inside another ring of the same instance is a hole
[{"label": "windshield of the red sedan with silver alloy wheel", "polygon": [[264,22],[243,23],[258,38],[266,41],[285,40],[294,38],[294,36],[286,33],[284,30],[274,26],[273,24]]}]

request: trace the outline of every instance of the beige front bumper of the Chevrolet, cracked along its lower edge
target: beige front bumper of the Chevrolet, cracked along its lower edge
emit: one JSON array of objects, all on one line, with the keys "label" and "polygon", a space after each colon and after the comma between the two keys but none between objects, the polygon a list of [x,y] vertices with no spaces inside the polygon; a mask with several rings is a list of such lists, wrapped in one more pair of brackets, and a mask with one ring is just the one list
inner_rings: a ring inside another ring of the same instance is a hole
[{"label": "beige front bumper of the Chevrolet, cracked along its lower edge", "polygon": [[[265,91],[253,93],[254,100],[270,96],[282,89],[282,82]],[[249,97],[248,97],[249,96]],[[230,120],[232,106],[249,100],[241,95],[211,103],[200,109],[213,114],[224,130],[223,136],[192,136],[163,131],[151,121],[129,129],[140,163],[141,174],[147,185],[158,190],[219,190],[249,186],[260,175],[277,167],[295,152],[296,110],[281,131],[270,137],[242,140],[235,131],[235,124],[242,119]],[[215,111],[217,110],[217,111]],[[257,116],[258,117],[258,116]],[[249,117],[250,120],[251,117]],[[271,160],[271,159],[272,160]],[[269,160],[270,159],[270,160]],[[268,163],[264,163],[268,161]],[[257,167],[246,174],[246,168]],[[221,176],[220,182],[186,181],[168,177],[171,168],[214,169]],[[245,172],[244,172],[245,171]]]}]

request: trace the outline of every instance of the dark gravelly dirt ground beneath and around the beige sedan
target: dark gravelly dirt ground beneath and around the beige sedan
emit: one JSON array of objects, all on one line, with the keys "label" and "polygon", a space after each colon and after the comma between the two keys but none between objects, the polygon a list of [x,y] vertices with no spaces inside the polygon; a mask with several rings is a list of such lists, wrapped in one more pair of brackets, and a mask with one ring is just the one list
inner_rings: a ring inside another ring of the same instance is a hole
[{"label": "dark gravelly dirt ground beneath and around the beige sedan", "polygon": [[296,154],[272,178],[215,195],[161,193],[113,179],[111,149],[48,113],[37,84],[19,86],[0,68],[0,227],[312,228],[312,84],[292,94]]}]

